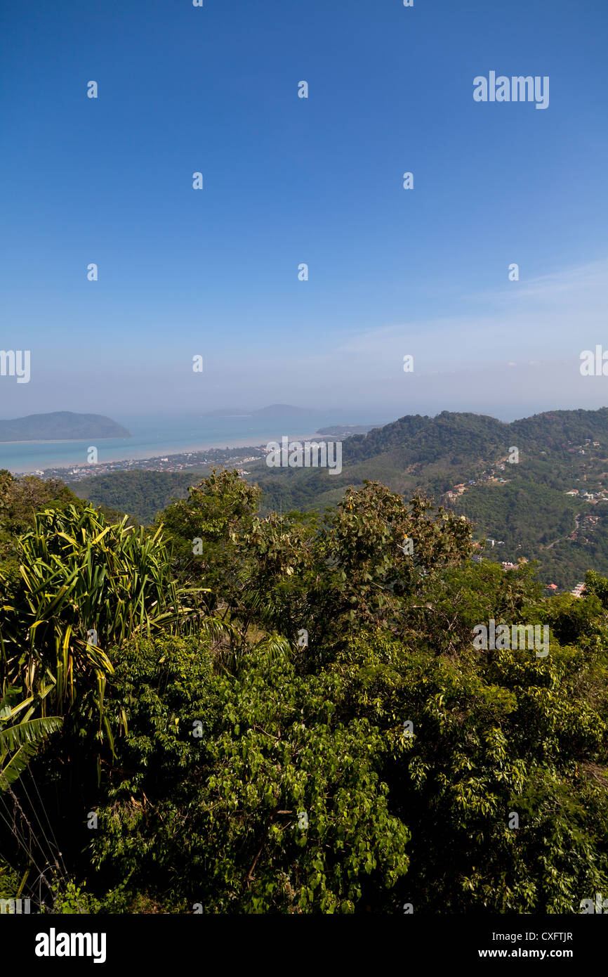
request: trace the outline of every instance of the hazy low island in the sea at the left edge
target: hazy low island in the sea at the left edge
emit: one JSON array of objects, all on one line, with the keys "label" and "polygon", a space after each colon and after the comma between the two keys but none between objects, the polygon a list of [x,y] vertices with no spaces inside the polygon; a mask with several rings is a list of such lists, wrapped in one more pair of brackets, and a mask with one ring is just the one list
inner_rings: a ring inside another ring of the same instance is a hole
[{"label": "hazy low island in the sea at the left edge", "polygon": [[0,420],[0,442],[86,441],[89,438],[131,438],[131,432],[101,414],[75,414],[71,410]]}]

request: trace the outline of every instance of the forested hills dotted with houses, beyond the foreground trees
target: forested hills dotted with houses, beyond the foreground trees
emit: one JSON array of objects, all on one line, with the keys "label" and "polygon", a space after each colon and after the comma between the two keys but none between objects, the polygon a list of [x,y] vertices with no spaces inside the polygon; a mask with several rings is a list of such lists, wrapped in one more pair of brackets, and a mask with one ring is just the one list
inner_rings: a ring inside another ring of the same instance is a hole
[{"label": "forested hills dotted with houses, beyond the foreground trees", "polygon": [[[518,461],[509,464],[513,446]],[[323,512],[338,504],[345,488],[367,479],[406,498],[425,493],[465,515],[476,538],[504,544],[486,556],[511,563],[538,560],[546,584],[571,589],[589,567],[608,573],[608,501],[595,505],[566,495],[573,488],[596,497],[608,491],[605,407],[558,410],[512,424],[448,411],[434,418],[407,416],[346,438],[340,475],[256,462],[247,467],[250,482],[262,488],[265,513]],[[172,497],[185,498],[194,481],[182,473],[120,473],[87,480],[75,490],[150,523]],[[462,493],[450,497],[459,484]]]}]

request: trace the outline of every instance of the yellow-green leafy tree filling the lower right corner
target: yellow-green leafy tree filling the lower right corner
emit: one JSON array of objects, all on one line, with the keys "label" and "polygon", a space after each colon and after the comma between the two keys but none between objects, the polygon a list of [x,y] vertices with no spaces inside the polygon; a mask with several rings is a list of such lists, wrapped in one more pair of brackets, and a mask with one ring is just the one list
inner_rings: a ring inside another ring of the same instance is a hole
[{"label": "yellow-green leafy tree filling the lower right corner", "polygon": [[338,714],[392,735],[382,776],[412,834],[394,912],[576,912],[605,887],[605,655],[449,659],[361,635],[336,667]]}]

